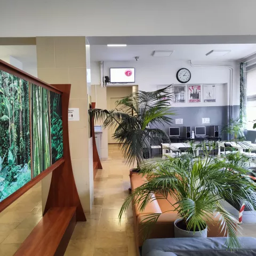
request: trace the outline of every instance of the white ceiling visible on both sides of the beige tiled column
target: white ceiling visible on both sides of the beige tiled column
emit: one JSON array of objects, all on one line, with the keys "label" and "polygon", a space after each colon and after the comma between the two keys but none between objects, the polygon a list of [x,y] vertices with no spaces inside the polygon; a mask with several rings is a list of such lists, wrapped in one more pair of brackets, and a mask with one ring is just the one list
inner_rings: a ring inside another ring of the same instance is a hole
[{"label": "white ceiling visible on both sides of the beige tiled column", "polygon": [[[91,61],[132,61],[139,56],[139,61],[154,61],[168,59],[198,60],[198,61],[227,61],[241,60],[256,52],[256,44],[155,44],[127,45],[126,47],[108,47],[107,45],[91,45]],[[155,50],[172,50],[170,57],[153,58]],[[230,53],[219,57],[206,57],[211,50],[231,50]],[[0,59],[9,62],[10,55],[25,66],[37,66],[36,45],[0,45]],[[134,60],[135,61],[135,60]]]}]

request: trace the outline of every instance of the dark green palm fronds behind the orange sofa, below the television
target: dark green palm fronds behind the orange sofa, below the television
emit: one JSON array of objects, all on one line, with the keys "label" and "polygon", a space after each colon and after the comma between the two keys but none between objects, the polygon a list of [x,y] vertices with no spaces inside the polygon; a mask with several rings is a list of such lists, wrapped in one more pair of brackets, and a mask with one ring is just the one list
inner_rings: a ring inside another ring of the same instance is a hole
[{"label": "dark green palm fronds behind the orange sofa, below the television", "polygon": [[169,136],[157,126],[172,123],[174,113],[170,108],[170,87],[154,92],[134,92],[118,100],[112,110],[89,110],[90,116],[103,122],[105,129],[111,126],[116,128],[113,138],[128,164],[133,166],[137,162],[139,168],[145,162],[144,156],[155,138],[169,140]]}]

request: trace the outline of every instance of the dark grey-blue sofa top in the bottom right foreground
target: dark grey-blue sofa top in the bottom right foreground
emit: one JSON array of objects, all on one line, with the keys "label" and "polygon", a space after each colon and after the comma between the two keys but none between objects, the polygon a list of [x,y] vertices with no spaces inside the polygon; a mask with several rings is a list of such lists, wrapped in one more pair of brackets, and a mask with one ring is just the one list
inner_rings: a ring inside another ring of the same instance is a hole
[{"label": "dark grey-blue sofa top in the bottom right foreground", "polygon": [[227,237],[160,238],[143,243],[142,256],[255,256],[256,238],[239,237],[241,248],[227,250]]}]

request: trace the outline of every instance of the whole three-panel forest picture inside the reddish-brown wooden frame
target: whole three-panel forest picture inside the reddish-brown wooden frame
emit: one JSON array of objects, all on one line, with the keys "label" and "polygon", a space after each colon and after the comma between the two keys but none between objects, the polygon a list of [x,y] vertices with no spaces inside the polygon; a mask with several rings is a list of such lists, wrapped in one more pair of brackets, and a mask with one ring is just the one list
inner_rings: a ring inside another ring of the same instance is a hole
[{"label": "whole three-panel forest picture inside the reddish-brown wooden frame", "polygon": [[61,94],[0,70],[0,202],[61,157]]}]

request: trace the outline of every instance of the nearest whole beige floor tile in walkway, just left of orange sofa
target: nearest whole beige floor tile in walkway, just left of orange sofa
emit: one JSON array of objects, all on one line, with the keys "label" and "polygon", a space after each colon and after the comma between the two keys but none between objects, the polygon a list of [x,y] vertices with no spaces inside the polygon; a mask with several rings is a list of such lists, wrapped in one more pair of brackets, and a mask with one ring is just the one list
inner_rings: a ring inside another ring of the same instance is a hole
[{"label": "nearest whole beige floor tile in walkway, just left of orange sofa", "polygon": [[119,232],[98,232],[95,248],[115,248],[127,246],[127,236],[125,231]]}]

